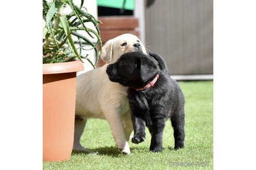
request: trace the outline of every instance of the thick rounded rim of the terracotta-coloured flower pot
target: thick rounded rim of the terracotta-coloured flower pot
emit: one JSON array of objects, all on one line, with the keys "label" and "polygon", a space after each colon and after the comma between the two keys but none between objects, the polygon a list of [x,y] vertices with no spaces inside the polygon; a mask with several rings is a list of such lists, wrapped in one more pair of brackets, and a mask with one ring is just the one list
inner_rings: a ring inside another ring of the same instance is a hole
[{"label": "thick rounded rim of the terracotta-coloured flower pot", "polygon": [[64,63],[43,64],[43,74],[72,73],[84,70],[81,61],[75,60]]}]

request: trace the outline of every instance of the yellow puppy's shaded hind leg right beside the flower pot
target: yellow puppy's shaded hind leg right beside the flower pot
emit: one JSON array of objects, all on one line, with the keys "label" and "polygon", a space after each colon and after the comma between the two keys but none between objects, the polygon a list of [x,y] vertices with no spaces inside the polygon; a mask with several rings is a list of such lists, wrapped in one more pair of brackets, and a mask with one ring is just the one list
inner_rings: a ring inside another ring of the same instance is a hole
[{"label": "yellow puppy's shaded hind leg right beside the flower pot", "polygon": [[88,151],[80,144],[80,138],[84,132],[84,127],[86,125],[87,118],[84,118],[82,120],[75,119],[75,126],[74,126],[74,144],[73,144],[73,150],[76,151]]}]

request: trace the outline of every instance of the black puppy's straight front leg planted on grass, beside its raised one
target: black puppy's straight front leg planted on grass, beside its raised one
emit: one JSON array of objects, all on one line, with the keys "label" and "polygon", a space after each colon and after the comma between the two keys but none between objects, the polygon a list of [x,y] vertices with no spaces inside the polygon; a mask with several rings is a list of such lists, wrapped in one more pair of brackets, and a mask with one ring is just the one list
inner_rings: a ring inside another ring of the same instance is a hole
[{"label": "black puppy's straight front leg planted on grass, beside its raised one", "polygon": [[161,152],[163,150],[163,130],[165,126],[165,120],[156,120],[150,127],[151,143],[149,150],[152,152]]}]

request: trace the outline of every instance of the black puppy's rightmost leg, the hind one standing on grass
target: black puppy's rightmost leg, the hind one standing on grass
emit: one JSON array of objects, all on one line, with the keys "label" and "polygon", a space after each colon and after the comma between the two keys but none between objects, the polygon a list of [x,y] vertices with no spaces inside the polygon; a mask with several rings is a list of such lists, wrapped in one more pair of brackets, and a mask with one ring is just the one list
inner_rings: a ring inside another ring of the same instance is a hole
[{"label": "black puppy's rightmost leg, the hind one standing on grass", "polygon": [[171,117],[171,122],[174,130],[174,140],[175,140],[175,147],[174,149],[179,149],[184,147],[184,124],[185,124],[185,114],[184,108],[178,108],[178,111],[174,113]]}]

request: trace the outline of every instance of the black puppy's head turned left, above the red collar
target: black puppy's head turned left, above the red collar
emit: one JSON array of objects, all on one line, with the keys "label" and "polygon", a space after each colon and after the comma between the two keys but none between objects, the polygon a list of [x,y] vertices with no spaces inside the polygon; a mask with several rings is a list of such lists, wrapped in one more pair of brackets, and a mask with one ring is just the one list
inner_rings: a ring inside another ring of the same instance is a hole
[{"label": "black puppy's head turned left, above the red collar", "polygon": [[155,60],[142,52],[128,52],[117,62],[109,64],[106,72],[110,81],[125,87],[141,88],[155,78],[158,66]]}]

